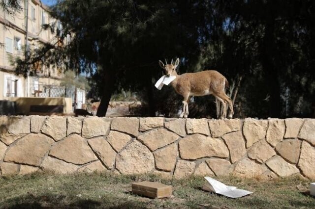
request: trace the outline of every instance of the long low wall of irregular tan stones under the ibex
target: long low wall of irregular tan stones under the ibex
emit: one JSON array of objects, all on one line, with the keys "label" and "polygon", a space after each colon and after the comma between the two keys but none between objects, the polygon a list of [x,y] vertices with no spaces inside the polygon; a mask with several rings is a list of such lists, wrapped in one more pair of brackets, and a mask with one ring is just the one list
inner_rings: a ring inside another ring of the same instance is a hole
[{"label": "long low wall of irregular tan stones under the ibex", "polygon": [[315,179],[315,119],[1,116],[1,175],[39,169]]}]

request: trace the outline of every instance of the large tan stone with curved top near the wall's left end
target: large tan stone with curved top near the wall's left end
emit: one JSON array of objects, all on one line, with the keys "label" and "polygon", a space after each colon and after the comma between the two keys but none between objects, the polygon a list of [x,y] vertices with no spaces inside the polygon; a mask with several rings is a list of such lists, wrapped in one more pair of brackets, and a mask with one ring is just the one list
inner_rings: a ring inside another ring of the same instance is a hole
[{"label": "large tan stone with curved top near the wall's left end", "polygon": [[53,144],[54,140],[44,134],[30,133],[8,149],[4,161],[39,166]]}]

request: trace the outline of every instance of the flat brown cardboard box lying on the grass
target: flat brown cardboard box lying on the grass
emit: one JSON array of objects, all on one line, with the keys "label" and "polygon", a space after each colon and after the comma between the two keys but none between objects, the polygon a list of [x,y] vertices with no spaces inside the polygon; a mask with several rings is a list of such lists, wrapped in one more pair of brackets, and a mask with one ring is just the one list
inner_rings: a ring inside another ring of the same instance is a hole
[{"label": "flat brown cardboard box lying on the grass", "polygon": [[172,195],[172,186],[157,182],[132,183],[132,193],[152,198],[164,198]]}]

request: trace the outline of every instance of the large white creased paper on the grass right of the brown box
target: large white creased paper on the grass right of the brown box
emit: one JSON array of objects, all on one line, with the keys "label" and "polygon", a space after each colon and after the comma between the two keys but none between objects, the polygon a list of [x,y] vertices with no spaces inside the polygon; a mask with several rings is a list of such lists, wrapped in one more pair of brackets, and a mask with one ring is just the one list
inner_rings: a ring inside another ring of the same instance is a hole
[{"label": "large white creased paper on the grass right of the brown box", "polygon": [[204,186],[206,190],[210,190],[212,192],[224,195],[226,197],[238,198],[248,194],[252,194],[252,192],[250,191],[237,189],[236,186],[227,186],[224,183],[212,179],[211,177],[205,177],[205,179],[209,183]]}]

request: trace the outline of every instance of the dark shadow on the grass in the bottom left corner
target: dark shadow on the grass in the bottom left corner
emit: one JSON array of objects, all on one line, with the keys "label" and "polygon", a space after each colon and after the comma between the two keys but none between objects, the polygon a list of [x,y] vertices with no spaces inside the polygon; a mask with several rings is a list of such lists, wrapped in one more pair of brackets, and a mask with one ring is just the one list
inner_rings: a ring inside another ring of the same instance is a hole
[{"label": "dark shadow on the grass in the bottom left corner", "polygon": [[91,199],[68,199],[64,195],[50,195],[50,196],[34,196],[32,194],[21,195],[4,202],[0,202],[0,209],[96,209],[96,208],[110,208],[110,209],[143,209],[146,208],[132,202],[113,201],[109,199],[100,199],[99,201]]}]

